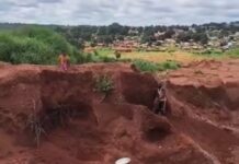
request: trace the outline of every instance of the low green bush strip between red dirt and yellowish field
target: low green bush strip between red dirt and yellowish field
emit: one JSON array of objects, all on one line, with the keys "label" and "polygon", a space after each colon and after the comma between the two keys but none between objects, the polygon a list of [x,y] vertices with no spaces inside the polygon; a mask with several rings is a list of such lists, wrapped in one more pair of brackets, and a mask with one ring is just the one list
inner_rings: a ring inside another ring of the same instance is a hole
[{"label": "low green bush strip between red dirt and yellowish field", "polygon": [[137,69],[143,72],[157,72],[166,70],[177,70],[180,65],[177,61],[166,61],[161,63],[150,62],[146,60],[135,60],[133,62]]}]

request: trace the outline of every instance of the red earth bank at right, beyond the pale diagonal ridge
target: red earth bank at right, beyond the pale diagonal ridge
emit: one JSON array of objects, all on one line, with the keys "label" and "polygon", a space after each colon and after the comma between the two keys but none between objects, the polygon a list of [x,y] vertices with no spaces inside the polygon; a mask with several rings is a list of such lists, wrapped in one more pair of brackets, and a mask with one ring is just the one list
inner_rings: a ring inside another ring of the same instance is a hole
[{"label": "red earth bank at right, beyond the pale diagonal ridge", "polygon": [[238,63],[204,61],[170,73],[167,85],[170,122],[223,164],[239,163]]}]

